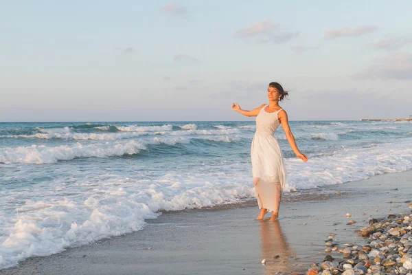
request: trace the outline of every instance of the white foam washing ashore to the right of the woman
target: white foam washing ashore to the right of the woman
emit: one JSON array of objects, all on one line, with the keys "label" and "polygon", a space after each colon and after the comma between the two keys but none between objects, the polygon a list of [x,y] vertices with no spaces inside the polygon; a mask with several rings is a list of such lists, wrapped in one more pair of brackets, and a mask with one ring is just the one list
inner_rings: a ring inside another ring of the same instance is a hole
[{"label": "white foam washing ashore to the right of the woman", "polygon": [[412,168],[412,140],[375,144],[368,148],[336,151],[333,155],[310,159],[287,159],[288,189],[310,189],[367,179],[383,173]]}]

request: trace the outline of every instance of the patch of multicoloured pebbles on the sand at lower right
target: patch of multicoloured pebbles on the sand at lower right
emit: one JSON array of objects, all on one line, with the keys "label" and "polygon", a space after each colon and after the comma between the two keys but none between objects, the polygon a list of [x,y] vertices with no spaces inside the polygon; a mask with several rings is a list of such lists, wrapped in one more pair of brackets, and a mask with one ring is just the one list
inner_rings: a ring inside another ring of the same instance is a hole
[{"label": "patch of multicoloured pebbles on the sand at lower right", "polygon": [[343,257],[327,255],[323,262],[312,265],[306,274],[412,275],[412,214],[371,219],[358,235],[364,237],[364,243],[341,245],[332,242],[330,234],[325,242],[325,252],[343,254]]}]

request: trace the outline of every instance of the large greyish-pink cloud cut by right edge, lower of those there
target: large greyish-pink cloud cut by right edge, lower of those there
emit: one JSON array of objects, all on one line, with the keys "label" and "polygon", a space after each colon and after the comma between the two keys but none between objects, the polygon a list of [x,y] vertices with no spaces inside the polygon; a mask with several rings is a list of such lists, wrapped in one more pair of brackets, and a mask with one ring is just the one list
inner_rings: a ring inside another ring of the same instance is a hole
[{"label": "large greyish-pink cloud cut by right edge, lower of those there", "polygon": [[412,80],[412,55],[409,53],[396,53],[376,58],[365,72],[354,75],[354,78]]}]

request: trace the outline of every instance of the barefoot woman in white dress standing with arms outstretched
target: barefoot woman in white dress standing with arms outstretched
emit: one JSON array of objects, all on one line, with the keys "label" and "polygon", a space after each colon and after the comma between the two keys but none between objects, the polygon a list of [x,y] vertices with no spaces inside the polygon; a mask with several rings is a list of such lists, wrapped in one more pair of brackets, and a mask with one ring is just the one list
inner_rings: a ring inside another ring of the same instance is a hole
[{"label": "barefoot woman in white dress standing with arms outstretched", "polygon": [[279,143],[273,136],[279,124],[282,124],[286,138],[296,156],[304,162],[308,161],[308,157],[300,153],[297,148],[286,111],[279,106],[279,101],[282,101],[285,96],[288,96],[288,91],[284,91],[279,83],[273,82],[269,83],[268,87],[269,104],[262,104],[252,111],[240,109],[238,103],[232,104],[232,109],[242,115],[257,117],[256,133],[251,146],[253,184],[260,208],[258,219],[263,219],[267,212],[273,211],[269,221],[275,221],[279,215],[282,190],[286,184],[284,157]]}]

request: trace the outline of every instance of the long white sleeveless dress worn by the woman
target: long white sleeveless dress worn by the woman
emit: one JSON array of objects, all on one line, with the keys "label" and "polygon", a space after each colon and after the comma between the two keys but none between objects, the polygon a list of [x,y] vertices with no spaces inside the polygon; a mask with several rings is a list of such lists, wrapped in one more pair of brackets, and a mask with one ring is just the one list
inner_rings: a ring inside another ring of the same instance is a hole
[{"label": "long white sleeveless dress worn by the woman", "polygon": [[268,113],[265,111],[267,106],[260,109],[256,117],[256,133],[252,140],[251,161],[253,182],[258,182],[255,185],[255,191],[258,196],[259,208],[273,211],[277,209],[275,205],[277,184],[280,184],[280,190],[283,190],[286,184],[286,168],[282,150],[273,136],[280,125],[277,113],[282,109]]}]

